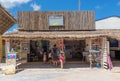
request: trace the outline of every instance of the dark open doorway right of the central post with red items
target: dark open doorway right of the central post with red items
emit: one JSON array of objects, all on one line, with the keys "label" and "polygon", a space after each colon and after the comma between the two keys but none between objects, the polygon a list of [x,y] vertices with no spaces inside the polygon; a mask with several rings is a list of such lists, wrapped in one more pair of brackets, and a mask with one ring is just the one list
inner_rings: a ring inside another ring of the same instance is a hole
[{"label": "dark open doorway right of the central post with red items", "polygon": [[65,40],[66,61],[82,61],[85,40]]}]

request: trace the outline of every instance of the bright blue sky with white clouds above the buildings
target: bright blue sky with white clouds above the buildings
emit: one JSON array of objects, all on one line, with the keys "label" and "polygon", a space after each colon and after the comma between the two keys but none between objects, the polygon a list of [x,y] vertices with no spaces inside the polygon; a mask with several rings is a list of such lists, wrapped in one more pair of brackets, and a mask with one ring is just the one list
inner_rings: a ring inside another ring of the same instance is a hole
[{"label": "bright blue sky with white clouds above the buildings", "polygon": [[[78,0],[0,0],[0,3],[15,17],[17,11],[70,11],[78,10]],[[80,0],[81,10],[93,10],[95,20],[120,16],[120,0]],[[17,28],[14,25],[9,31]]]}]

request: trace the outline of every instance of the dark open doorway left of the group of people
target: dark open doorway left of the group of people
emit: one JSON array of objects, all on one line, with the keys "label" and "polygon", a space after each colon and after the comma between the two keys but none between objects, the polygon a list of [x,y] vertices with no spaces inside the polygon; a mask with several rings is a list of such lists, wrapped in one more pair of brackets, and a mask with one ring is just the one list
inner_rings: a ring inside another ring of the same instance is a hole
[{"label": "dark open doorway left of the group of people", "polygon": [[28,54],[28,62],[38,62],[43,59],[43,53],[48,52],[48,40],[30,40],[30,54]]}]

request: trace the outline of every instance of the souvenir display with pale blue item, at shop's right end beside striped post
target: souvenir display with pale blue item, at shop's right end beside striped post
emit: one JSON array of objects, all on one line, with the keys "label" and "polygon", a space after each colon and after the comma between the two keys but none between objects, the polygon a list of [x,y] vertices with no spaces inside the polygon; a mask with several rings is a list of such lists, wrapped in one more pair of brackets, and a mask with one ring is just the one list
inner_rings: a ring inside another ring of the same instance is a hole
[{"label": "souvenir display with pale blue item, at shop's right end beside striped post", "polygon": [[90,50],[88,59],[90,62],[90,68],[92,68],[93,64],[96,67],[101,66],[102,61],[102,38],[91,39]]}]

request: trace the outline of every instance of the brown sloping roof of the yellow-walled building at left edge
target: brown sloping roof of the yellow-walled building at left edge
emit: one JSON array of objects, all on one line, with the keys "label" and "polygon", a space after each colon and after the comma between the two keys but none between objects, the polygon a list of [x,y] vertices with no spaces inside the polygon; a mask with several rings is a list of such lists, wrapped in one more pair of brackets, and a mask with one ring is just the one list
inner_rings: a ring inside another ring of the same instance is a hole
[{"label": "brown sloping roof of the yellow-walled building at left edge", "polygon": [[5,33],[16,23],[16,19],[0,5],[0,34]]}]

